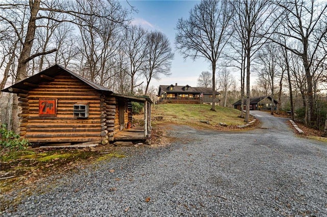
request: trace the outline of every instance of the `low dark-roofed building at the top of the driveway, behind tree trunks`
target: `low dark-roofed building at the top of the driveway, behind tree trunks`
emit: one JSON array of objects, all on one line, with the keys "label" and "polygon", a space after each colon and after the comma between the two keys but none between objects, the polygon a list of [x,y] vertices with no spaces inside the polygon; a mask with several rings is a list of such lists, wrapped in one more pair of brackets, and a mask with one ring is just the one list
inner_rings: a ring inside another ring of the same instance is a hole
[{"label": "low dark-roofed building at the top of the driveway, behind tree trunks", "polygon": [[[271,106],[273,106],[274,110],[276,110],[278,102],[276,100],[273,101],[274,102],[272,103],[272,99],[270,96],[260,96],[260,97],[250,98],[250,110],[270,110]],[[241,111],[241,100],[235,102],[233,106],[234,108]],[[246,107],[246,102],[244,99],[243,110],[245,110],[245,107]]]}]

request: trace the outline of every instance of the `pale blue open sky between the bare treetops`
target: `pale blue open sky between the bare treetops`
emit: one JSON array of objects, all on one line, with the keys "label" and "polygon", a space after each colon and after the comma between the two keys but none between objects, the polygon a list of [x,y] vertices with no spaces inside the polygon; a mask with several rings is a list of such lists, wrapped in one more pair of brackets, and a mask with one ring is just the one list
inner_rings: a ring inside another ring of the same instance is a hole
[{"label": "pale blue open sky between the bare treetops", "polygon": [[[199,1],[131,1],[138,13],[133,15],[132,24],[141,25],[148,30],[157,30],[164,33],[170,40],[175,54],[172,61],[171,75],[161,76],[159,81],[152,80],[150,86],[158,88],[159,85],[178,85],[191,87],[197,86],[197,79],[202,71],[211,71],[211,65],[203,58],[196,61],[182,56],[175,48],[176,23],[179,18],[189,18],[190,10]],[[126,1],[121,1],[123,7],[127,7]]]}]

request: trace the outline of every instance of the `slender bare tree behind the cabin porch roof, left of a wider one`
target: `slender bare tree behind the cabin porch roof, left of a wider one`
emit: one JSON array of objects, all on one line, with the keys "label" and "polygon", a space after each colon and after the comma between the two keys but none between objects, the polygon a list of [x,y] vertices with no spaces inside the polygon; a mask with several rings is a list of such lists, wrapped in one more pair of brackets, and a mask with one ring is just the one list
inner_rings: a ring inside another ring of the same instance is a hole
[{"label": "slender bare tree behind the cabin porch roof, left of a wider one", "polygon": [[146,31],[141,26],[132,25],[126,28],[124,39],[124,51],[129,58],[129,76],[131,77],[130,92],[134,93],[134,88],[140,84],[136,84],[139,73],[145,61]]}]

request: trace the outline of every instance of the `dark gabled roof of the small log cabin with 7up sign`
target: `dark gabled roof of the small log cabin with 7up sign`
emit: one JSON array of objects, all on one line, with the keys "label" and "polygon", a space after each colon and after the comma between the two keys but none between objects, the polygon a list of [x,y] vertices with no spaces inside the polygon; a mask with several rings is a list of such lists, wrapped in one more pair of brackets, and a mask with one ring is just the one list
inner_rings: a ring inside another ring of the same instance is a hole
[{"label": "dark gabled roof of the small log cabin with 7up sign", "polygon": [[[62,66],[59,66],[58,64],[55,64],[47,69],[44,69],[43,71],[41,71],[35,75],[32,75],[31,77],[28,77],[24,80],[21,80],[21,82],[18,82],[18,83],[14,84],[4,90],[1,90],[1,91],[8,92],[8,93],[20,93],[21,91],[27,91],[27,90],[37,87],[37,85],[41,82],[46,82],[46,81],[54,79],[53,77],[55,77],[56,75],[58,75],[62,72],[67,72],[67,73],[71,74],[73,77],[79,79],[81,82],[85,83],[86,85],[89,85],[90,87],[92,87],[98,91],[105,92],[106,94],[113,94],[113,92],[110,91],[108,88],[98,85],[97,83],[91,82],[90,80],[82,77],[81,75],[76,74],[76,73],[72,72],[71,70],[66,69]],[[132,101],[144,102],[145,100],[147,100],[150,103],[152,103],[152,101],[149,97],[129,96],[129,95],[123,95],[123,94],[113,94],[113,95],[122,97],[122,98],[128,98]]]}]

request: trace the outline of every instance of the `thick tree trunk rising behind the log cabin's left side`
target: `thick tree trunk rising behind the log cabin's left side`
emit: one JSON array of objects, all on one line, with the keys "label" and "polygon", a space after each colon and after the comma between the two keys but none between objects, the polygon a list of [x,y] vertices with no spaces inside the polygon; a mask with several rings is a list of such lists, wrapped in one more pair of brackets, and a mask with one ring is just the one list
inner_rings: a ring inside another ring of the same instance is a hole
[{"label": "thick tree trunk rising behind the log cabin's left side", "polygon": [[[26,31],[26,38],[24,44],[22,45],[22,50],[20,53],[20,57],[18,59],[18,66],[17,66],[17,74],[15,82],[20,82],[27,77],[27,63],[31,56],[31,49],[33,46],[33,40],[35,37],[35,20],[37,13],[40,9],[40,0],[32,0],[29,1],[30,8],[31,8],[31,17],[28,23],[27,31]],[[12,104],[12,130],[17,132],[18,129],[18,97],[14,95],[13,97],[13,104]]]}]

